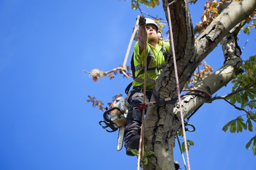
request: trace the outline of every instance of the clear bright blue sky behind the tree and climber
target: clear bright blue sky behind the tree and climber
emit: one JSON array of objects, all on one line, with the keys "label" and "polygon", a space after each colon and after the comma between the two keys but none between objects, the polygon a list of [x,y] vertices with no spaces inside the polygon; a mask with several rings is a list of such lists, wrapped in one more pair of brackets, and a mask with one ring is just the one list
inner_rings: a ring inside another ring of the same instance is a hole
[{"label": "clear bright blue sky behind the tree and climber", "polygon": [[[190,5],[193,24],[204,2]],[[142,10],[165,19],[162,3]],[[0,1],[0,170],[136,169],[137,158],[116,151],[117,132],[103,130],[103,112],[86,101],[90,95],[107,104],[131,81],[117,75],[93,82],[83,71],[122,65],[139,14],[130,0]],[[249,39],[241,57],[255,55],[255,30],[239,37],[241,48]],[[224,62],[221,45],[206,60],[216,71]],[[228,92],[230,85],[216,95]],[[255,131],[221,130],[241,114],[214,101],[191,118],[192,170],[256,169],[245,149]],[[184,170],[178,147],[174,157]]]}]

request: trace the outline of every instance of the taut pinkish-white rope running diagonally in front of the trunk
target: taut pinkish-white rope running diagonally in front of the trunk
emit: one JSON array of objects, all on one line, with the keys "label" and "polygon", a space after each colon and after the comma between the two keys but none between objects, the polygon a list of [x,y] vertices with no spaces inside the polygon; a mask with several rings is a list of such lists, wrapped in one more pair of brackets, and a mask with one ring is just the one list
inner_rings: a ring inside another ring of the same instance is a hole
[{"label": "taut pinkish-white rope running diagonally in front of the trunk", "polygon": [[[172,3],[174,3],[172,1]],[[172,4],[171,3],[171,4]],[[175,69],[175,78],[177,83],[177,94],[179,99],[179,106],[180,106],[180,119],[181,119],[181,125],[182,125],[182,131],[183,131],[183,137],[184,137],[184,144],[185,144],[185,150],[186,150],[186,159],[188,164],[188,170],[190,170],[190,164],[189,164],[189,153],[188,153],[188,147],[186,142],[186,133],[185,133],[185,126],[184,126],[184,119],[183,119],[183,112],[182,112],[182,105],[181,105],[181,99],[180,99],[180,87],[179,87],[179,79],[177,74],[177,65],[176,65],[176,58],[175,58],[175,49],[174,49],[174,42],[173,42],[173,35],[172,35],[172,22],[171,22],[171,14],[168,3],[168,0],[165,1],[165,5],[167,7],[167,13],[168,13],[168,23],[169,23],[169,31],[170,31],[170,37],[171,37],[171,44],[172,44],[172,56],[173,56],[173,62],[174,62],[174,69]]]}]

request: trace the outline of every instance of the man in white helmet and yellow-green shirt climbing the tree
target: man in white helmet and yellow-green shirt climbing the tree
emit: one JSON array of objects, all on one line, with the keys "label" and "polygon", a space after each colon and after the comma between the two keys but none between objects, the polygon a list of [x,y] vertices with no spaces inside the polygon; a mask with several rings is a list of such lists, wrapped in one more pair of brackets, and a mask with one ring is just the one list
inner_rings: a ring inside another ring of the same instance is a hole
[{"label": "man in white helmet and yellow-green shirt climbing the tree", "polygon": [[[131,61],[131,65],[134,69],[132,82],[133,89],[130,91],[128,98],[129,113],[127,115],[127,124],[125,130],[125,147],[126,154],[134,156],[131,150],[139,149],[140,143],[140,127],[142,123],[142,111],[138,110],[138,106],[143,104],[143,91],[144,91],[144,32],[143,28],[146,27],[148,34],[147,44],[147,79],[146,79],[146,95],[145,102],[149,102],[152,95],[152,88],[155,86],[158,75],[162,71],[165,58],[167,58],[166,51],[169,51],[169,42],[162,44],[160,39],[162,34],[158,31],[158,26],[149,18],[141,16],[139,20],[139,29],[137,36],[134,40],[137,40],[134,47],[134,55]],[[145,110],[146,111],[146,110]]]}]

